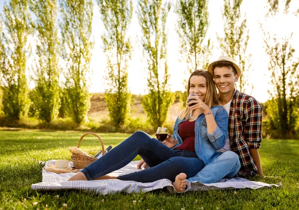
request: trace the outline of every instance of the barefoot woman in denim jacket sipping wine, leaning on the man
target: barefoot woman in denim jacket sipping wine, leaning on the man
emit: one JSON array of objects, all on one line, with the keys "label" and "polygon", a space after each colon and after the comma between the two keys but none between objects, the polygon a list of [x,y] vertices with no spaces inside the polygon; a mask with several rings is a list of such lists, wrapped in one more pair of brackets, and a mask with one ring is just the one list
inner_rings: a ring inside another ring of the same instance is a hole
[{"label": "barefoot woman in denim jacket sipping wine, leaning on the man", "polygon": [[[189,98],[194,100],[187,103],[175,121],[173,136],[168,134],[161,143],[137,131],[69,181],[119,179],[147,183],[168,179],[177,192],[183,192],[186,178],[194,176],[219,156],[217,150],[225,144],[228,127],[227,112],[218,106],[216,87],[209,72],[195,70],[190,75],[187,93],[197,93],[198,98]],[[195,105],[189,107],[189,104]],[[186,121],[190,110],[194,118]],[[118,177],[107,176],[129,164],[137,155],[149,169]]]}]

